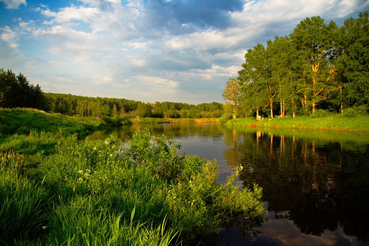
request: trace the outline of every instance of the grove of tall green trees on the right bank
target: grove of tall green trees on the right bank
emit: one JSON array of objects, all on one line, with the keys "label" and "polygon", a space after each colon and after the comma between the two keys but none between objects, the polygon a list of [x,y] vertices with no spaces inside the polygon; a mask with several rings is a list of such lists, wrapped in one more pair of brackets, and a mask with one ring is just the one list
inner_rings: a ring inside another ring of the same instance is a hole
[{"label": "grove of tall green trees on the right bank", "polygon": [[366,111],[369,102],[369,13],[344,25],[306,18],[289,36],[248,49],[239,77],[228,80],[225,110],[238,116]]}]

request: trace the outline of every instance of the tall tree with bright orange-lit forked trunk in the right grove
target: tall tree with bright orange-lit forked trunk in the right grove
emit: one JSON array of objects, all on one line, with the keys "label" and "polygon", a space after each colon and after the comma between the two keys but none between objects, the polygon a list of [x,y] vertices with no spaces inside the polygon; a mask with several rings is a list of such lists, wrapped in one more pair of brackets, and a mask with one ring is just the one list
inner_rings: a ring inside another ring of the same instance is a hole
[{"label": "tall tree with bright orange-lit forked trunk in the right grove", "polygon": [[337,30],[335,22],[325,24],[324,20],[317,17],[306,18],[301,21],[290,34],[290,38],[297,46],[299,58],[297,62],[303,68],[303,76],[306,78],[306,87],[303,104],[307,106],[310,100],[312,112],[316,105],[329,97],[331,90],[337,89],[335,75],[337,69],[330,60],[334,59],[334,38]]}]

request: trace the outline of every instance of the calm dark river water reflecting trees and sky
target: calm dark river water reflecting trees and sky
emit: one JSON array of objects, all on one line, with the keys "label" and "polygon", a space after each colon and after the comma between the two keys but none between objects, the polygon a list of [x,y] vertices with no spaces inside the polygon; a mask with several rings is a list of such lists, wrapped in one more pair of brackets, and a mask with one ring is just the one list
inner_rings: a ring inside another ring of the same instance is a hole
[{"label": "calm dark river water reflecting trees and sky", "polygon": [[219,182],[242,164],[235,185],[263,187],[265,218],[234,221],[209,245],[369,245],[369,134],[132,125],[95,132],[121,139],[139,129],[168,135],[182,151],[217,160]]}]

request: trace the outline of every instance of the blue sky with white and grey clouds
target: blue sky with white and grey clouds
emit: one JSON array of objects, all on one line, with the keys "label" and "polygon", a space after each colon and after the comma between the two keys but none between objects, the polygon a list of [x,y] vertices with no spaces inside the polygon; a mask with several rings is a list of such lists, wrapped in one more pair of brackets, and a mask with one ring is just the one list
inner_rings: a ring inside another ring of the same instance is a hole
[{"label": "blue sky with white and grey clouds", "polygon": [[247,49],[369,0],[0,0],[0,68],[44,92],[224,103]]}]

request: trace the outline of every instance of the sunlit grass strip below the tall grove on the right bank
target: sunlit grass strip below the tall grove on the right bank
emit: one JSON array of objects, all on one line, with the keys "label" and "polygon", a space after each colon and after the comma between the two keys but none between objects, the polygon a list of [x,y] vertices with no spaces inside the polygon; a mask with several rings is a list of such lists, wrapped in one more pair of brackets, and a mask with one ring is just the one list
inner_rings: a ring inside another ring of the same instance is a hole
[{"label": "sunlit grass strip below the tall grove on the right bank", "polygon": [[231,119],[227,125],[246,127],[270,127],[270,128],[293,128],[293,129],[323,129],[323,130],[346,130],[346,131],[369,131],[369,116],[342,117],[332,115],[320,118],[311,116],[281,117],[263,121],[256,118]]}]

